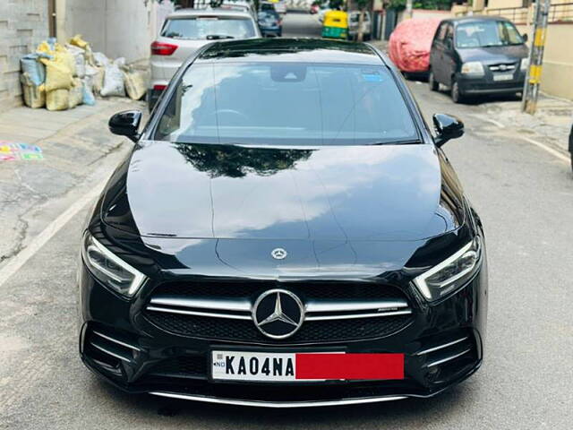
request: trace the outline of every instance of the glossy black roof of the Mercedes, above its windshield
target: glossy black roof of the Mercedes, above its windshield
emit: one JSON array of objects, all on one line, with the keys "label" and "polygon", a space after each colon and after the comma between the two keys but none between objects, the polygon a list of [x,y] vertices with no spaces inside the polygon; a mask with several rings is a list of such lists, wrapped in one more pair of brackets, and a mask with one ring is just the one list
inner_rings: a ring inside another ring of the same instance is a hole
[{"label": "glossy black roof of the Mercedes, above its windshield", "polygon": [[216,42],[206,49],[202,61],[290,61],[382,65],[384,60],[364,43],[326,39],[244,39]]}]

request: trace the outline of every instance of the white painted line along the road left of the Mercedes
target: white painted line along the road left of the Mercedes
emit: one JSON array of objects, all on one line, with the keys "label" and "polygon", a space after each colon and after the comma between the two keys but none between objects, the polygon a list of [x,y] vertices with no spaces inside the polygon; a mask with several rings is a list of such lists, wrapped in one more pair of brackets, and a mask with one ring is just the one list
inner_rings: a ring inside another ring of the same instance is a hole
[{"label": "white painted line along the road left of the Mercedes", "polygon": [[102,182],[100,185],[92,189],[90,193],[85,194],[80,200],[74,202],[72,206],[66,209],[60,216],[54,219],[47,228],[44,228],[38,236],[30,242],[30,245],[26,246],[20,253],[13,256],[8,263],[0,269],[0,287],[4,285],[4,282],[8,280],[14,273],[19,271],[21,267],[34,256],[42,246],[46,245],[47,242],[56,235],[64,226],[68,223],[70,219],[81,211],[86,204],[95,199],[107,181]]}]

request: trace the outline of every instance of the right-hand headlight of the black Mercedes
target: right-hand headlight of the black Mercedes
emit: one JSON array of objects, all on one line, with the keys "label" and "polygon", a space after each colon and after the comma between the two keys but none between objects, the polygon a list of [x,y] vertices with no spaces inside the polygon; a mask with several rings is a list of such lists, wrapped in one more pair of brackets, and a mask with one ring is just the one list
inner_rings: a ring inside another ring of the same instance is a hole
[{"label": "right-hand headlight of the black Mercedes", "polygon": [[423,297],[433,302],[453,293],[466,285],[479,269],[482,256],[482,244],[479,236],[475,236],[469,244],[462,247],[440,264],[423,272],[414,283]]}]

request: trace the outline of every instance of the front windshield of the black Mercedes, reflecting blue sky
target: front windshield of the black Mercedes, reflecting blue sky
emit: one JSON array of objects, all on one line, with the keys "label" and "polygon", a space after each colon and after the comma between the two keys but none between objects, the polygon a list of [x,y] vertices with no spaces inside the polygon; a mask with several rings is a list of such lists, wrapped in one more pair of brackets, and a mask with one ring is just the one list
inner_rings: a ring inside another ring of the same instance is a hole
[{"label": "front windshield of the black Mercedes, reflecting blue sky", "polygon": [[194,64],[155,140],[264,145],[413,142],[416,128],[388,69],[346,64]]}]

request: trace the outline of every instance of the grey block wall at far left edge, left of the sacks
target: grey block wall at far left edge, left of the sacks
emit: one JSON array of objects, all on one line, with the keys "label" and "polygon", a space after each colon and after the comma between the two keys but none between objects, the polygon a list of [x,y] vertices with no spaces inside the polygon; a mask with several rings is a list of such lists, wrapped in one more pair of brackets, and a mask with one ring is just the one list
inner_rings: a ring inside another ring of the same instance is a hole
[{"label": "grey block wall at far left edge, left of the sacks", "polygon": [[21,105],[20,58],[47,35],[47,0],[0,0],[0,112]]}]

